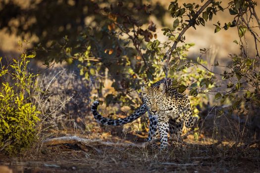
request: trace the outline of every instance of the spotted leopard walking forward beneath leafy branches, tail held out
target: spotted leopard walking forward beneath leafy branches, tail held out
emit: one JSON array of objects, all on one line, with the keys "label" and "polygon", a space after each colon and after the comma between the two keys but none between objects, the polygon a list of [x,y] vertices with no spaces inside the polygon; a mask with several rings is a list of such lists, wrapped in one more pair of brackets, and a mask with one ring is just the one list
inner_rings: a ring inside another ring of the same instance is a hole
[{"label": "spotted leopard walking forward beneath leafy branches, tail held out", "polygon": [[131,115],[122,119],[105,118],[98,112],[99,101],[94,101],[91,111],[102,125],[122,126],[131,123],[148,112],[149,131],[147,141],[159,136],[160,150],[168,149],[168,133],[181,137],[182,130],[193,128],[198,119],[193,117],[188,95],[172,87],[174,79],[162,79],[151,87],[141,87],[143,104]]}]

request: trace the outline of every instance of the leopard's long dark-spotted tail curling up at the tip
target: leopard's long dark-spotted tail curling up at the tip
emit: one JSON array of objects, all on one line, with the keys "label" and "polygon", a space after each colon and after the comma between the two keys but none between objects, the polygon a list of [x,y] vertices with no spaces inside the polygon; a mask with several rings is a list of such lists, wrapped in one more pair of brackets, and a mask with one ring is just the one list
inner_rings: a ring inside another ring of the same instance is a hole
[{"label": "leopard's long dark-spotted tail curling up at the tip", "polygon": [[112,120],[109,118],[105,118],[100,113],[98,112],[98,105],[100,103],[98,101],[95,101],[92,106],[91,106],[91,111],[95,117],[95,119],[98,121],[98,123],[103,124],[103,125],[109,125],[109,126],[121,126],[127,123],[131,123],[144,115],[147,111],[146,106],[143,104],[140,106],[133,114],[126,118],[118,119],[118,120]]}]

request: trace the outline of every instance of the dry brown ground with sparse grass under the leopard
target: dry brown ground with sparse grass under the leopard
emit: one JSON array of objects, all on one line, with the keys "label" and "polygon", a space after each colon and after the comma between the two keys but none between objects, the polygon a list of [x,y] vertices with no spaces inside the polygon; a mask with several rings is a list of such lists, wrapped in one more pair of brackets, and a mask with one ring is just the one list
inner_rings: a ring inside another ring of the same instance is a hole
[{"label": "dry brown ground with sparse grass under the leopard", "polygon": [[[0,156],[0,165],[8,166],[13,173],[260,173],[260,149],[256,145],[246,149],[232,148],[230,143],[216,144],[202,136],[194,141],[193,135],[189,135],[181,146],[171,144],[168,151],[161,153],[158,144],[145,149],[42,145],[27,153],[26,158]],[[81,137],[93,138],[93,134]],[[125,143],[144,142],[142,135],[128,134],[124,140],[120,137],[113,135],[110,139]]]}]

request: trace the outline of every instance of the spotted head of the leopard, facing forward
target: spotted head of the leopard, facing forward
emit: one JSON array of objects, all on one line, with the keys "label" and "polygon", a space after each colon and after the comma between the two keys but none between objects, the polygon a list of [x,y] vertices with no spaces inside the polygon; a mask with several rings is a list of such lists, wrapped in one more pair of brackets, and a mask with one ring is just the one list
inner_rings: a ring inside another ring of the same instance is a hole
[{"label": "spotted head of the leopard, facing forward", "polygon": [[148,112],[157,115],[162,107],[163,84],[160,84],[159,87],[141,87],[141,91]]}]

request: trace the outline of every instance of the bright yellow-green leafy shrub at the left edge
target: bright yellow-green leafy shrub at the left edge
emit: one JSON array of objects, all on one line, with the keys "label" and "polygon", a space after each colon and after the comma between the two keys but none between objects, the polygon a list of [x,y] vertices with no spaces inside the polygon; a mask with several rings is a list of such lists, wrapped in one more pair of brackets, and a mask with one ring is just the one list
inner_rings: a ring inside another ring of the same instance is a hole
[{"label": "bright yellow-green leafy shrub at the left edge", "polygon": [[[27,72],[28,58],[35,55],[23,53],[13,59],[10,68],[1,63],[0,78],[0,151],[15,154],[24,151],[36,139],[36,123],[40,120],[36,105],[32,102],[38,75]],[[0,62],[1,62],[0,58]],[[11,81],[6,79],[11,76]]]}]

